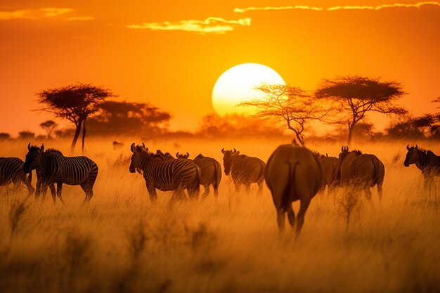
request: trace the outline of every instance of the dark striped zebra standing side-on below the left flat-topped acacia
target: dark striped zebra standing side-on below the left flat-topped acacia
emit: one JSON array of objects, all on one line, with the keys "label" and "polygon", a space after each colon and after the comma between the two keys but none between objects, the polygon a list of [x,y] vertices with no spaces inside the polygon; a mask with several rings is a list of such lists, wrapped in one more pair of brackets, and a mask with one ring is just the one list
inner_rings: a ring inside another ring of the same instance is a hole
[{"label": "dark striped zebra standing side-on below the left flat-topped acacia", "polygon": [[[98,165],[88,157],[65,157],[59,150],[41,148],[27,145],[29,150],[23,166],[25,173],[36,169],[41,176],[41,183],[51,190],[53,202],[56,195],[64,203],[62,197],[63,183],[67,185],[80,185],[86,193],[84,202],[89,202],[93,197],[93,185],[98,176]],[[57,185],[55,192],[55,183]],[[38,185],[38,183],[37,183]]]}]

